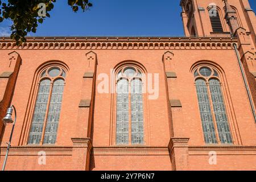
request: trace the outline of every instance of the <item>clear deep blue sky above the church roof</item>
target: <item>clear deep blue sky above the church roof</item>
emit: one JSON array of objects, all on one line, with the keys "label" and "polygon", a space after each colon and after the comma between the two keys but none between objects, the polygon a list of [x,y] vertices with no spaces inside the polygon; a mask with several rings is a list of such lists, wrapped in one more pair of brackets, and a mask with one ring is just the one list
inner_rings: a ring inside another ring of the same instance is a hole
[{"label": "clear deep blue sky above the church roof", "polygon": [[[67,0],[57,1],[51,18],[31,36],[181,36],[179,0],[91,0],[93,7],[73,13]],[[249,0],[256,10],[256,1]],[[8,33],[10,22],[0,23]]]}]

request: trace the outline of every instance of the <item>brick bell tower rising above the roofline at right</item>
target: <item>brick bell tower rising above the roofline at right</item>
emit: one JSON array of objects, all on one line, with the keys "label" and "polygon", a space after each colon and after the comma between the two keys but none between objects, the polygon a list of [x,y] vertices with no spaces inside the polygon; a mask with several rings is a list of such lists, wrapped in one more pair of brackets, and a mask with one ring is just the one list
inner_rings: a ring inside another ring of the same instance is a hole
[{"label": "brick bell tower rising above the roofline at right", "polygon": [[248,0],[181,0],[180,6],[185,36],[234,36],[241,27],[255,40],[256,19]]}]

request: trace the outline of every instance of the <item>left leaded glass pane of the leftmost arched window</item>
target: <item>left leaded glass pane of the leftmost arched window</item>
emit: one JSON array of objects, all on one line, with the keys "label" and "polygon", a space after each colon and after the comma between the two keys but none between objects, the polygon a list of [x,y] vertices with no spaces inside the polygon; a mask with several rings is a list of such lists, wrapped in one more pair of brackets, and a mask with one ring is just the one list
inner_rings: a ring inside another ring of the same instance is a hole
[{"label": "left leaded glass pane of the leftmost arched window", "polygon": [[44,118],[46,117],[46,109],[50,88],[50,80],[43,80],[40,82],[38,97],[36,99],[35,110],[30,129],[30,135],[28,137],[28,144],[39,144],[42,138]]}]

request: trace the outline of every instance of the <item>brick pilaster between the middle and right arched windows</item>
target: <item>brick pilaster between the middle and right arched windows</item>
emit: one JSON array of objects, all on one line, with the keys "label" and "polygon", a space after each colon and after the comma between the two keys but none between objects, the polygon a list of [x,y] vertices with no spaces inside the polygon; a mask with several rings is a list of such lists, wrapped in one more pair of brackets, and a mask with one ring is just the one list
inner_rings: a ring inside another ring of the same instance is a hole
[{"label": "brick pilaster between the middle and right arched windows", "polygon": [[173,170],[188,170],[188,140],[183,130],[183,111],[181,101],[177,98],[179,92],[177,75],[172,67],[174,53],[163,55],[164,70],[166,72],[166,88],[170,117],[171,139],[168,145]]}]

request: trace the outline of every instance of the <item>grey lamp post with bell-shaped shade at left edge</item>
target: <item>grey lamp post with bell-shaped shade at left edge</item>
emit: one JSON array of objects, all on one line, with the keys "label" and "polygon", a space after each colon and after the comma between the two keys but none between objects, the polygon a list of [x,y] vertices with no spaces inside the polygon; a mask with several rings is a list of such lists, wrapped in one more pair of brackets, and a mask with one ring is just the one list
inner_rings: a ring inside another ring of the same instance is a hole
[{"label": "grey lamp post with bell-shaped shade at left edge", "polygon": [[[13,110],[14,110],[14,120],[13,118],[11,118],[11,115],[13,115]],[[7,150],[6,150],[6,155],[5,155],[5,161],[3,162],[3,168],[2,168],[2,171],[5,171],[5,166],[6,166],[6,162],[7,162],[7,158],[8,158],[8,153],[9,153],[9,150],[10,150],[10,146],[11,146],[11,138],[13,138],[13,130],[14,130],[14,126],[15,126],[15,123],[16,123],[16,109],[14,107],[14,105],[11,105],[11,107],[9,107],[7,109],[7,112],[6,112],[6,116],[2,119],[3,121],[3,124],[6,126],[7,123],[13,123],[13,129],[11,129],[11,135],[10,135],[10,139],[9,139],[9,142],[7,143],[8,146],[7,146]]]}]

